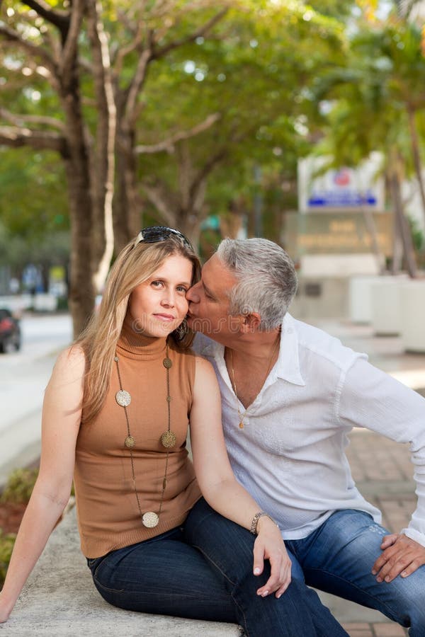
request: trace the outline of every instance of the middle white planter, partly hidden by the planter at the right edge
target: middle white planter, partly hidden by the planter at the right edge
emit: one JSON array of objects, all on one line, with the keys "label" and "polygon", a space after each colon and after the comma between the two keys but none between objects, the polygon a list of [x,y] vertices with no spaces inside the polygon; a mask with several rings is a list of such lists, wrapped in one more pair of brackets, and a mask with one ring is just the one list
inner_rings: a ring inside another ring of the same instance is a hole
[{"label": "middle white planter, partly hidden by the planter at the right edge", "polygon": [[400,285],[405,275],[384,276],[370,286],[373,332],[378,336],[399,334],[402,328]]}]

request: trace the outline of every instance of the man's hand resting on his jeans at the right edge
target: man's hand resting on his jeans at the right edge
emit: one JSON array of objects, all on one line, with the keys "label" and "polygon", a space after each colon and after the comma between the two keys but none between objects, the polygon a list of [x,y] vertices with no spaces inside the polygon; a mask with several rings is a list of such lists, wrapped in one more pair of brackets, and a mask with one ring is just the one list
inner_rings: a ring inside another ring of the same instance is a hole
[{"label": "man's hand resting on his jeans at the right edge", "polygon": [[392,582],[397,575],[407,578],[416,568],[425,564],[425,546],[421,546],[407,535],[386,535],[382,540],[381,549],[382,553],[372,568],[377,582]]}]

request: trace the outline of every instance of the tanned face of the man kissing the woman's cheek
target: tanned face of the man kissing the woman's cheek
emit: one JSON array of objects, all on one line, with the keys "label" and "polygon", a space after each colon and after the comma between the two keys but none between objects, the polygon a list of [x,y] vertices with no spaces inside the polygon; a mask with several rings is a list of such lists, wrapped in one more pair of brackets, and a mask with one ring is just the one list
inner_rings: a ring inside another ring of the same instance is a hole
[{"label": "tanned face of the man kissing the woman's cheek", "polygon": [[[201,280],[186,294],[189,301],[188,324],[221,342],[239,331],[237,317],[229,316],[229,291],[237,278],[225,268],[217,255],[205,263]],[[227,339],[226,339],[227,340]]]}]

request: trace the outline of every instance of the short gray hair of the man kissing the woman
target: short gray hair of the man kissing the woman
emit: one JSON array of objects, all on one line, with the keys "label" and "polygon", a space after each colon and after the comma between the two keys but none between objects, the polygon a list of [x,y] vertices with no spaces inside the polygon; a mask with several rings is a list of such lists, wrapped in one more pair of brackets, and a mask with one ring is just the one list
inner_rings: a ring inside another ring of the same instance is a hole
[{"label": "short gray hair of the man kissing the woman", "polygon": [[217,256],[239,280],[229,291],[229,314],[258,312],[261,330],[280,326],[297,291],[294,264],[283,248],[268,239],[224,239]]}]

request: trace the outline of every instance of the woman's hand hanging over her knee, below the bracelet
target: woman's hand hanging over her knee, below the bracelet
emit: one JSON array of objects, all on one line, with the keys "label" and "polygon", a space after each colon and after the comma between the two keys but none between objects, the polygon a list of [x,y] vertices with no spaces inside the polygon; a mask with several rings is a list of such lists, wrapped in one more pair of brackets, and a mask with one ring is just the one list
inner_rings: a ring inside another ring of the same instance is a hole
[{"label": "woman's hand hanging over her knee, below the bracelet", "polygon": [[279,598],[290,585],[292,563],[280,530],[269,517],[261,517],[257,529],[259,534],[254,544],[254,575],[263,573],[265,559],[270,561],[271,566],[270,578],[257,590],[257,595],[266,597],[276,592],[276,597]]}]

